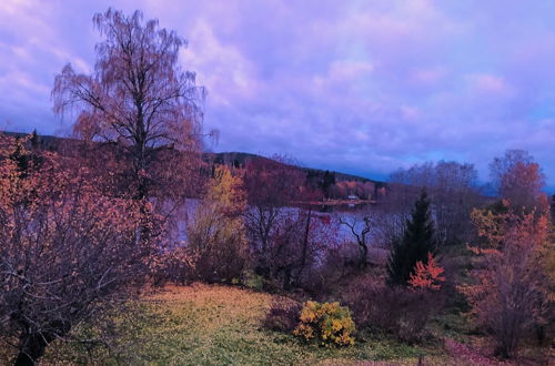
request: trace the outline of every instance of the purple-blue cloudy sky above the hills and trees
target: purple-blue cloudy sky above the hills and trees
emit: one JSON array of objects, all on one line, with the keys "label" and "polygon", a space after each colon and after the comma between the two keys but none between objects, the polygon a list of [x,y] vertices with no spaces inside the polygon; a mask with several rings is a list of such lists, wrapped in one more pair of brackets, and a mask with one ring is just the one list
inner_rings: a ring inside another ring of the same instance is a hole
[{"label": "purple-blue cloudy sky above the hills and trees", "polygon": [[92,17],[109,7],[189,41],[213,151],[374,179],[454,160],[485,181],[523,149],[555,192],[553,0],[1,0],[0,129],[69,133],[53,79],[92,70]]}]

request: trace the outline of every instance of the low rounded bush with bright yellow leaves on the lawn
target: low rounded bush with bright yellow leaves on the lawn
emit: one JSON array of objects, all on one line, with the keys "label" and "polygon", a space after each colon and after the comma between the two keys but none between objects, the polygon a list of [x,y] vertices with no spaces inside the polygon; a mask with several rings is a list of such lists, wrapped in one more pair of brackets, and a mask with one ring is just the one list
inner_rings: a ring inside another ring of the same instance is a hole
[{"label": "low rounded bush with bright yellow leaves on the lawn", "polygon": [[349,307],[340,303],[306,302],[293,334],[321,345],[350,346],[354,344],[354,331]]}]

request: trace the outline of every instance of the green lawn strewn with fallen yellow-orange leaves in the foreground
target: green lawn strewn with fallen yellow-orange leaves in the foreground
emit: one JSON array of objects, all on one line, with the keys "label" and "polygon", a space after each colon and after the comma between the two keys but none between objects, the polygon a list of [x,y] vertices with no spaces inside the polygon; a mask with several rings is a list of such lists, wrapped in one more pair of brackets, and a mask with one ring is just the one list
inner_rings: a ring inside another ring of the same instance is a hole
[{"label": "green lawn strewn with fallen yellow-orange leaves in the foreground", "polygon": [[[121,339],[118,355],[94,354],[62,346],[43,364],[95,363],[132,365],[305,365],[380,364],[415,365],[448,362],[441,350],[422,349],[391,339],[357,339],[354,347],[304,345],[291,335],[261,326],[272,295],[226,286],[168,287],[147,297],[139,327]],[[147,316],[144,316],[147,315]],[[137,318],[137,317],[135,317]]]}]

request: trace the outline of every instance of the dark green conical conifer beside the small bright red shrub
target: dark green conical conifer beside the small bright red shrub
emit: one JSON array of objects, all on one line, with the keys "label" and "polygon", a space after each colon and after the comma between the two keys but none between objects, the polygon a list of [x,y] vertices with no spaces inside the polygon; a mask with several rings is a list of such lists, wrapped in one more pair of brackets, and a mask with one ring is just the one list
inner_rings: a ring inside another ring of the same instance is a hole
[{"label": "dark green conical conifer beside the small bright red shrub", "polygon": [[434,226],[430,213],[430,200],[422,192],[414,203],[412,217],[406,223],[403,237],[394,243],[387,261],[391,285],[406,285],[414,274],[416,263],[427,264],[428,253],[435,254]]}]

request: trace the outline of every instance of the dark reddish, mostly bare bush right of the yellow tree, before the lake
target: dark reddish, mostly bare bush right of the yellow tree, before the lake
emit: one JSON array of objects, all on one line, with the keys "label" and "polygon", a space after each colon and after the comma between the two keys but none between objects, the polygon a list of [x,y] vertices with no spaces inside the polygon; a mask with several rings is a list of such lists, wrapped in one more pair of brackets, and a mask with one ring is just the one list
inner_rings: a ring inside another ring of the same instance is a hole
[{"label": "dark reddish, mostly bare bush right of the yellow tree, before the lake", "polygon": [[276,159],[255,159],[246,166],[244,222],[256,274],[268,288],[291,289],[311,283],[312,271],[336,241],[337,226],[329,215],[300,207],[315,193],[303,172]]}]

